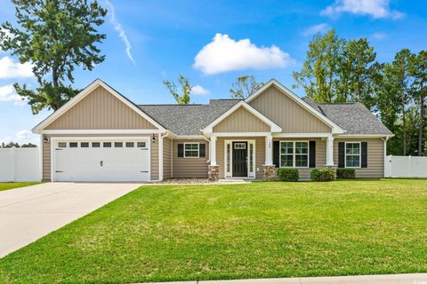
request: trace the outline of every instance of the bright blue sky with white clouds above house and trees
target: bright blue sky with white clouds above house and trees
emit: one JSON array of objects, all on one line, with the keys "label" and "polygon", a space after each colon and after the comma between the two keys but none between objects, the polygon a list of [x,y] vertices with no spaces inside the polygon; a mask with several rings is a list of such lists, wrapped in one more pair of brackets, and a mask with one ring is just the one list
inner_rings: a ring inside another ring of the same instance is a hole
[{"label": "bright blue sky with white clouds above house and trees", "polygon": [[[308,43],[331,28],[346,39],[367,37],[377,60],[409,48],[427,49],[427,2],[403,0],[99,0],[108,9],[99,28],[106,59],[93,71],[76,69],[76,88],[101,78],[137,104],[173,104],[162,83],[185,75],[192,103],[230,99],[241,75],[271,78],[292,88]],[[0,0],[0,22],[15,24],[14,6]],[[12,83],[35,88],[31,63],[0,51],[0,142],[38,144],[31,129],[52,111],[32,114]],[[294,89],[303,96],[301,89]]]}]

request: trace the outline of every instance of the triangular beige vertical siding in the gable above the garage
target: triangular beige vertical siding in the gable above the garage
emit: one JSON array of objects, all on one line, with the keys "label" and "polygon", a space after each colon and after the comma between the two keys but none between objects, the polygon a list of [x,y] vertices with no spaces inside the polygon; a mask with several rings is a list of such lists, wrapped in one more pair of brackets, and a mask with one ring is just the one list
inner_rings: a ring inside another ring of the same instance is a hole
[{"label": "triangular beige vertical siding in the gable above the garage", "polygon": [[157,128],[100,86],[45,129],[154,130]]}]

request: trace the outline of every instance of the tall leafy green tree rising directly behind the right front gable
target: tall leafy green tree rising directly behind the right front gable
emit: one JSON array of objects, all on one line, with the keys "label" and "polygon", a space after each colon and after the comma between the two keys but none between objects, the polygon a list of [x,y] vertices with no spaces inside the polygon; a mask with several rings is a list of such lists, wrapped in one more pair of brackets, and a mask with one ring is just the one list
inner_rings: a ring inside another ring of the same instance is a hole
[{"label": "tall leafy green tree rising directly behind the right front gable", "polygon": [[315,36],[309,44],[301,72],[293,73],[296,81],[293,87],[302,86],[307,97],[317,102],[345,101],[337,91],[344,43],[335,35],[334,29],[324,36]]}]

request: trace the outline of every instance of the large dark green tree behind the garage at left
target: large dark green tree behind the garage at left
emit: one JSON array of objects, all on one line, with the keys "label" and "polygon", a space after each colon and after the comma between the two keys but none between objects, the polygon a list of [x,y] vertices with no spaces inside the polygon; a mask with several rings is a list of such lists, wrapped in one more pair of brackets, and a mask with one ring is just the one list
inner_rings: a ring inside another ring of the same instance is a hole
[{"label": "large dark green tree behind the garage at left", "polygon": [[106,38],[97,31],[107,10],[87,0],[12,0],[20,25],[1,25],[0,49],[11,51],[20,63],[31,62],[39,86],[28,89],[15,83],[28,99],[33,114],[44,108],[57,110],[77,94],[75,67],[92,70],[105,56],[95,45]]}]

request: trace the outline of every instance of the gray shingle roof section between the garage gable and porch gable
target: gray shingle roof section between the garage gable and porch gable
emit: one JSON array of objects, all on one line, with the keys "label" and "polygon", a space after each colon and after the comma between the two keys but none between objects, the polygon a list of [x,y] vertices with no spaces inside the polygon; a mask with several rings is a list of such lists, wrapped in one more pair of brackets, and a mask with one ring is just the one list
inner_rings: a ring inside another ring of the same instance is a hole
[{"label": "gray shingle roof section between the garage gable and porch gable", "polygon": [[166,130],[176,135],[201,135],[209,123],[214,122],[238,103],[239,99],[211,99],[209,105],[140,105]]}]

